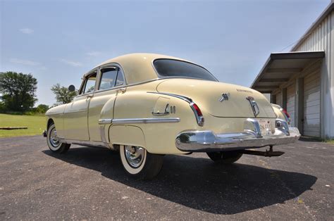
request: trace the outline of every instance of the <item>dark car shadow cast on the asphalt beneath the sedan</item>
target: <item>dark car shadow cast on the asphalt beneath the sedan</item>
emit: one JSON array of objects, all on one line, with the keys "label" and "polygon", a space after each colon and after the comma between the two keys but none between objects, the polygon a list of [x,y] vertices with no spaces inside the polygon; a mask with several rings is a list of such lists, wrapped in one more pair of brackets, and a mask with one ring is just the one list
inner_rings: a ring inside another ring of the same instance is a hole
[{"label": "dark car shadow cast on the asphalt beneath the sedan", "polygon": [[297,201],[310,190],[316,177],[299,172],[270,170],[234,163],[217,165],[198,155],[165,156],[160,174],[150,181],[125,175],[116,151],[88,147],[73,148],[64,155],[49,156],[83,168],[159,198],[189,208],[216,214],[235,214],[263,208],[290,199]]}]

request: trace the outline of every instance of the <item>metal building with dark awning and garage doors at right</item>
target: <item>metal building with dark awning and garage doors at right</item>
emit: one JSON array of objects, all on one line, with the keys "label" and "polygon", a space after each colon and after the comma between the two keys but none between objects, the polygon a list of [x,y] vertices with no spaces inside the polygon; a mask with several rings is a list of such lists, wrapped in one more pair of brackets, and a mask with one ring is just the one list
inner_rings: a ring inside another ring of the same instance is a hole
[{"label": "metal building with dark awning and garage doors at right", "polygon": [[304,136],[334,138],[334,1],[290,52],[271,53],[251,86],[271,94]]}]

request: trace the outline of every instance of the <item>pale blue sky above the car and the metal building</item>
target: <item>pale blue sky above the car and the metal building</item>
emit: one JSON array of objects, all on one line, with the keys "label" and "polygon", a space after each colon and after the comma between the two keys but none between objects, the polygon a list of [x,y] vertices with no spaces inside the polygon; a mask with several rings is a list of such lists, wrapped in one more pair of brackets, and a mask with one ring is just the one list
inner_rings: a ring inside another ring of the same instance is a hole
[{"label": "pale blue sky above the car and the metal building", "polygon": [[0,71],[32,73],[37,103],[49,105],[53,84],[79,87],[95,65],[135,52],[185,58],[249,87],[329,2],[0,0]]}]

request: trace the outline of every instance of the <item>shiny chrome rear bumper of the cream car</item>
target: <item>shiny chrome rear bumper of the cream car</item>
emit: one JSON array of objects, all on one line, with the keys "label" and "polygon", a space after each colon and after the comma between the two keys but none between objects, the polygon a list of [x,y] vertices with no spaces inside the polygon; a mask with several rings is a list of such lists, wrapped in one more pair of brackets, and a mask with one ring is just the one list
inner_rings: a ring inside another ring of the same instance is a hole
[{"label": "shiny chrome rear bumper of the cream car", "polygon": [[288,127],[287,122],[280,119],[276,120],[273,134],[262,135],[259,122],[251,118],[245,120],[244,128],[244,132],[225,134],[215,134],[209,130],[185,131],[178,134],[175,145],[180,151],[186,152],[232,151],[290,144],[300,137],[297,127]]}]

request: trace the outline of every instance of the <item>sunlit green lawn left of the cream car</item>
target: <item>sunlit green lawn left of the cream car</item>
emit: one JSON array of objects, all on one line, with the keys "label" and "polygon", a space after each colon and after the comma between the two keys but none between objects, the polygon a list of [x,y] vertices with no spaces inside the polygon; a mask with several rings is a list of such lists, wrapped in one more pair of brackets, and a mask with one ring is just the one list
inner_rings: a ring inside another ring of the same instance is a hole
[{"label": "sunlit green lawn left of the cream car", "polygon": [[0,113],[0,127],[28,127],[24,130],[0,130],[0,137],[41,135],[46,128],[44,115],[9,115]]}]

